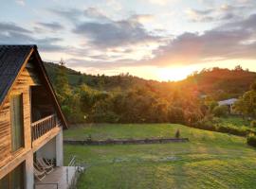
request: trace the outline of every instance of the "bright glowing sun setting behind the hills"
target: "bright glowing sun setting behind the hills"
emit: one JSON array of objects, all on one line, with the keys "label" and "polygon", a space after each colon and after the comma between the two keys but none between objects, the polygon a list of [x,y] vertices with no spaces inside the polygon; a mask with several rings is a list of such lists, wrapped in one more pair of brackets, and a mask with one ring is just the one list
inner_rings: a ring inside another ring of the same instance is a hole
[{"label": "bright glowing sun setting behind the hills", "polygon": [[158,71],[158,79],[162,81],[177,81],[182,80],[194,72],[191,67],[175,67],[175,68],[160,68]]}]

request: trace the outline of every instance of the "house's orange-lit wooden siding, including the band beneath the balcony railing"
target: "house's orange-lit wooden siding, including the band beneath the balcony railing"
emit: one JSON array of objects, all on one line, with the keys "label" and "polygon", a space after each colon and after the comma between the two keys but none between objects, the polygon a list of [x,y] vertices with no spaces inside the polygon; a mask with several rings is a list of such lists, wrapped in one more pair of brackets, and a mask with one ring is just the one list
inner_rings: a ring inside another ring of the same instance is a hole
[{"label": "house's orange-lit wooden siding, including the band beneath the balcony railing", "polygon": [[[13,170],[18,164],[25,161],[27,154],[44,146],[50,139],[58,135],[61,127],[49,130],[45,135],[34,141],[31,137],[31,87],[47,85],[42,78],[42,73],[34,67],[34,62],[27,62],[20,71],[16,81],[0,107],[0,180]],[[50,93],[50,92],[48,92]],[[15,152],[11,151],[11,126],[10,126],[10,104],[9,99],[13,94],[23,94],[23,121],[24,121],[24,147]],[[58,123],[57,123],[58,125]],[[59,126],[59,125],[58,125]]]}]

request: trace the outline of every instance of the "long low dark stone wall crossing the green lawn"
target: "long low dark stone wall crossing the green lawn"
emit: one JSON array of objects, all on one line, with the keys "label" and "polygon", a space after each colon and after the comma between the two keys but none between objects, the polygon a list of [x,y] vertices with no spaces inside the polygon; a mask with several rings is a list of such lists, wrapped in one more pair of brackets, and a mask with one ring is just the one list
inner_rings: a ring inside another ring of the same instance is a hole
[{"label": "long low dark stone wall crossing the green lawn", "polygon": [[160,138],[160,139],[108,139],[108,140],[74,140],[65,139],[66,145],[143,145],[143,144],[166,144],[166,143],[185,143],[188,138]]}]

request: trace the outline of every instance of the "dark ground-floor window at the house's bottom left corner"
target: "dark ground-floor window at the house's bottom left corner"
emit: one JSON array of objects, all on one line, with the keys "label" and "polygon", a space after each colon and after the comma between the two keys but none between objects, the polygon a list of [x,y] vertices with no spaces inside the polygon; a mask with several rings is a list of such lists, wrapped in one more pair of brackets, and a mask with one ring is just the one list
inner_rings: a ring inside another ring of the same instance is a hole
[{"label": "dark ground-floor window at the house's bottom left corner", "polygon": [[17,166],[6,177],[0,180],[0,188],[24,189],[24,165]]}]

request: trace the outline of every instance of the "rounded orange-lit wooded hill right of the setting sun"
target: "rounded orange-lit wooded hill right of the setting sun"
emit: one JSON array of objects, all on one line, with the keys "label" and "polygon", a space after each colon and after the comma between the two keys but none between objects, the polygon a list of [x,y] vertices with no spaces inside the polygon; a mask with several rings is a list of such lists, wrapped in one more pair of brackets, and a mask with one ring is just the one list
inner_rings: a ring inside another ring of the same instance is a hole
[{"label": "rounded orange-lit wooded hill right of the setting sun", "polygon": [[185,87],[194,87],[199,94],[221,100],[244,94],[255,79],[256,73],[248,70],[212,68],[187,77],[179,83]]}]

